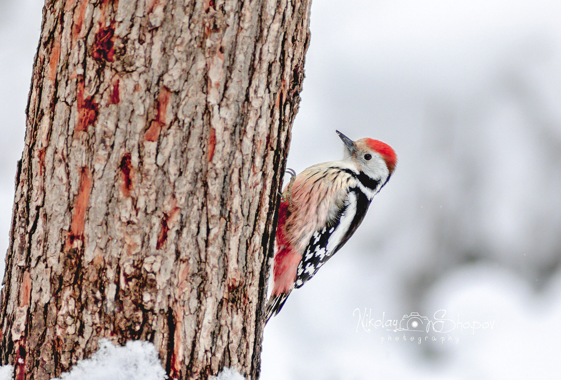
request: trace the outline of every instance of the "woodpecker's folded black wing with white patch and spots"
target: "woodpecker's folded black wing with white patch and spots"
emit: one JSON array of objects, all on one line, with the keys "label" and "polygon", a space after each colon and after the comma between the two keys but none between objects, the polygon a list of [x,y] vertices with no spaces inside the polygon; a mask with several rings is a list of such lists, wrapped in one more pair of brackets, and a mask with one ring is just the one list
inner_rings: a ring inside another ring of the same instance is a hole
[{"label": "woodpecker's folded black wing with white patch and spots", "polygon": [[325,264],[355,233],[370,200],[358,187],[349,189],[343,207],[323,228],[316,230],[298,264],[295,287],[299,288],[314,277],[321,265]]}]

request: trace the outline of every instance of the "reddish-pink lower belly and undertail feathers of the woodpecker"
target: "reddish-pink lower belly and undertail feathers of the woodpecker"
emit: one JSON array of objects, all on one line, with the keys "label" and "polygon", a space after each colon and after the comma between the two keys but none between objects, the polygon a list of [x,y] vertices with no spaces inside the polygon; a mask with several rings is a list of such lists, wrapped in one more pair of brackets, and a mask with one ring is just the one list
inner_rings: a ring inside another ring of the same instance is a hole
[{"label": "reddish-pink lower belly and undertail feathers of the woodpecker", "polygon": [[274,257],[273,265],[273,293],[272,296],[282,293],[289,293],[296,281],[296,271],[298,264],[302,259],[302,255],[292,249],[292,245],[287,239],[286,219],[288,213],[288,200],[280,203],[279,222],[277,226],[277,235],[275,244],[277,245],[277,253]]}]

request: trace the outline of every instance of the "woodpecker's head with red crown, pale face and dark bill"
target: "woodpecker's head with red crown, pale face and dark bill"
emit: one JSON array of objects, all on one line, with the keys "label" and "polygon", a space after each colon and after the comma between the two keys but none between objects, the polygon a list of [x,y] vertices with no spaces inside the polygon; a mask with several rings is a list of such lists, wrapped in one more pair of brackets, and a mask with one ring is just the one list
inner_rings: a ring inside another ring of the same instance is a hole
[{"label": "woodpecker's head with red crown, pale face and dark bill", "polygon": [[392,147],[381,141],[364,138],[352,141],[335,131],[345,144],[343,161],[353,164],[359,172],[384,183],[396,168],[397,156]]}]

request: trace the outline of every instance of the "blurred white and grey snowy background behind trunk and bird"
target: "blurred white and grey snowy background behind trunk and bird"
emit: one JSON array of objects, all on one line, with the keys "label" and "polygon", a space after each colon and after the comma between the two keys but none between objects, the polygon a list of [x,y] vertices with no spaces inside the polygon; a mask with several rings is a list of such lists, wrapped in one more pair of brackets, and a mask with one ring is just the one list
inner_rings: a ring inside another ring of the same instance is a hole
[{"label": "blurred white and grey snowy background behind trunk and bird", "polygon": [[[2,252],[41,7],[0,0]],[[556,1],[314,0],[288,167],[338,159],[335,129],[399,162],[269,322],[264,380],[559,376],[559,20]],[[454,329],[379,326],[412,312]]]}]

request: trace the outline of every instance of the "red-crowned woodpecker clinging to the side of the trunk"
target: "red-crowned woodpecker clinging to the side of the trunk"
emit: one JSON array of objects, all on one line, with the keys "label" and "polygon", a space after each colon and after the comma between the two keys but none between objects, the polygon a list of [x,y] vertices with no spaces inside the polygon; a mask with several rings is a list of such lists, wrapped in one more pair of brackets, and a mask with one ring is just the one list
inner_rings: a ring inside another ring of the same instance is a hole
[{"label": "red-crowned woodpecker clinging to the side of the trunk", "polygon": [[310,166],[297,176],[292,171],[285,187],[267,322],[280,312],[290,292],[314,277],[350,239],[396,168],[396,153],[388,144],[369,138],[352,141],[335,132],[344,143],[343,159]]}]

